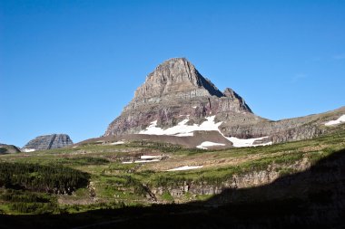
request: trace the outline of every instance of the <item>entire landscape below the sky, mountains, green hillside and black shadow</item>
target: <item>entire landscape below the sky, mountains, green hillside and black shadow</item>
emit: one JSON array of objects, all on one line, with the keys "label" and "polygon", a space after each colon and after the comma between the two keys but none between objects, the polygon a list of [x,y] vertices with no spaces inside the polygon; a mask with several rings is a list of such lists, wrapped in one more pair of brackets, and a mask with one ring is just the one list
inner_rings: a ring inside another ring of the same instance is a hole
[{"label": "entire landscape below the sky, mountains, green hillside and black shadow", "polygon": [[0,145],[0,228],[343,228],[345,107],[258,116],[185,58],[100,138]]}]

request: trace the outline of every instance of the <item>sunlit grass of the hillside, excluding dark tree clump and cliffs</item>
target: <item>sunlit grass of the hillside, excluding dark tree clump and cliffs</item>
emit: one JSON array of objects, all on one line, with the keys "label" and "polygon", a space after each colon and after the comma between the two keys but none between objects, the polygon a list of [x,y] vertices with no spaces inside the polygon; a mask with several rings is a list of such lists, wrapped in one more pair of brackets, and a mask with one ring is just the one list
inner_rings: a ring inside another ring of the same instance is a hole
[{"label": "sunlit grass of the hillside, excluding dark tree clump and cliffs", "polygon": [[[53,196],[57,199],[54,213],[81,212],[104,207],[123,205],[151,205],[145,186],[179,186],[184,181],[218,186],[233,175],[261,171],[274,165],[281,176],[296,172],[288,165],[302,160],[313,164],[345,148],[344,125],[339,131],[321,138],[284,143],[268,147],[231,148],[219,151],[178,148],[165,144],[142,146],[135,142],[120,146],[89,144],[77,148],[60,148],[32,153],[3,155],[0,162],[25,162],[41,165],[63,165],[91,174],[89,187],[80,188],[72,196]],[[123,157],[147,153],[163,154],[168,159],[144,165],[121,164]],[[184,165],[203,165],[202,169],[165,172],[167,168]],[[0,195],[7,190],[0,188]],[[210,196],[192,196],[185,193],[178,201],[205,199]],[[176,201],[167,190],[160,202]],[[11,209],[11,203],[0,200],[0,211],[5,214],[21,214]],[[55,204],[55,203],[54,203]]]}]

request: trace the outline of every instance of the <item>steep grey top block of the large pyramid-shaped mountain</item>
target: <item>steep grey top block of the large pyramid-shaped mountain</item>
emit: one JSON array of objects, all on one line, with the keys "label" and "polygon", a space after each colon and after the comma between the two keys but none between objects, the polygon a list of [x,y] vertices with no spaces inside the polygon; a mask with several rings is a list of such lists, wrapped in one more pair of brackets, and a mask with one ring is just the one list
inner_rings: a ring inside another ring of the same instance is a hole
[{"label": "steep grey top block of the large pyramid-shaped mountain", "polygon": [[162,97],[172,92],[195,91],[196,94],[224,96],[211,81],[202,77],[186,58],[173,58],[159,64],[134,93],[134,99]]}]

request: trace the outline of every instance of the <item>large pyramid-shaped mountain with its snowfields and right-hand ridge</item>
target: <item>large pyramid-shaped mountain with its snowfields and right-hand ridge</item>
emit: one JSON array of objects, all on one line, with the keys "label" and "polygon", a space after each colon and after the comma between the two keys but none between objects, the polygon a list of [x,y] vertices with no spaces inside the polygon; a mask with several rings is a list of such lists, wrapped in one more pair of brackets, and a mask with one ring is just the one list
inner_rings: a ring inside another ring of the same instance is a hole
[{"label": "large pyramid-shaped mountain with its snowfields and right-hand ridge", "polygon": [[191,62],[173,58],[146,77],[104,137],[144,134],[183,138],[211,130],[235,147],[253,146],[314,138],[330,130],[326,121],[342,114],[345,108],[296,119],[263,119],[235,91],[219,91]]}]

